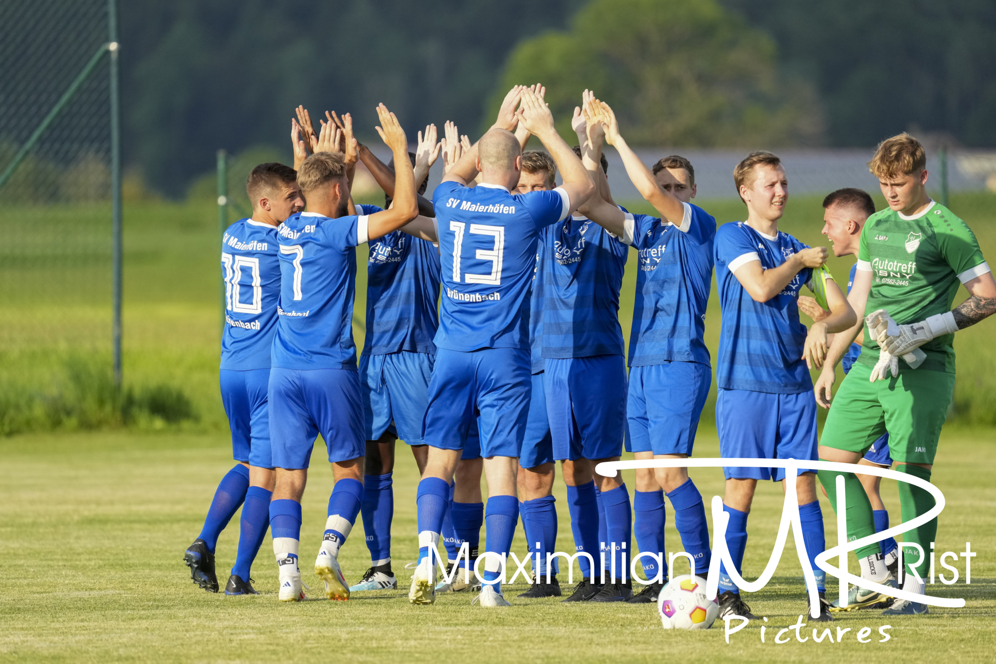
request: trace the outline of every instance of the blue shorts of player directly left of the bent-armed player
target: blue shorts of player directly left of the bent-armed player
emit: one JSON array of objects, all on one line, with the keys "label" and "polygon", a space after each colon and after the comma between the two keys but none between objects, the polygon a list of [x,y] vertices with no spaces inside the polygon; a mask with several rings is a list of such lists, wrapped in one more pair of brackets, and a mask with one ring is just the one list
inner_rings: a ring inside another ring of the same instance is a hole
[{"label": "blue shorts of player directly left of the bent-armed player", "polygon": [[664,362],[629,369],[626,452],[691,456],[712,370],[698,362]]}]

